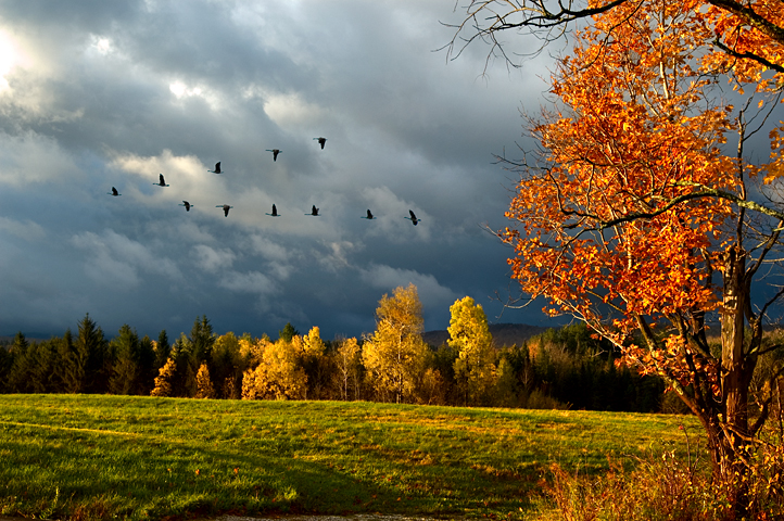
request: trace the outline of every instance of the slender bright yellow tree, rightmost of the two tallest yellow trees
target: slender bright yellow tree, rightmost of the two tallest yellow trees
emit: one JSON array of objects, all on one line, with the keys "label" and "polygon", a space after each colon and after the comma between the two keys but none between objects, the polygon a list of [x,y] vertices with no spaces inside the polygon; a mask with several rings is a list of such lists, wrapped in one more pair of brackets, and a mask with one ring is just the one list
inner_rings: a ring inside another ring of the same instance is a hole
[{"label": "slender bright yellow tree, rightmost of the two tallest yellow trees", "polygon": [[484,404],[495,380],[493,335],[480,304],[466,296],[450,307],[448,345],[457,350],[455,379],[463,386],[466,403]]}]

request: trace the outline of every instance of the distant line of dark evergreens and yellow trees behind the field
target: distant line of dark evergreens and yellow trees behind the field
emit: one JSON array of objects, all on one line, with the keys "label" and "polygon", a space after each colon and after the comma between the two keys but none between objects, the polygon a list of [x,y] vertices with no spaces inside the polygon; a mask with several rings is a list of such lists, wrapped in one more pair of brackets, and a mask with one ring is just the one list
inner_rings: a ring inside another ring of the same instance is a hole
[{"label": "distant line of dark evergreens and yellow trees behind the field", "polygon": [[576,323],[497,347],[481,305],[451,308],[450,339],[428,345],[414,284],[383,295],[363,338],[323,340],[287,323],[216,334],[206,316],[169,342],[124,325],[109,340],[86,315],[76,334],[0,348],[2,393],[110,393],[222,399],[340,399],[485,407],[659,411],[663,383],[617,367],[610,344]]}]

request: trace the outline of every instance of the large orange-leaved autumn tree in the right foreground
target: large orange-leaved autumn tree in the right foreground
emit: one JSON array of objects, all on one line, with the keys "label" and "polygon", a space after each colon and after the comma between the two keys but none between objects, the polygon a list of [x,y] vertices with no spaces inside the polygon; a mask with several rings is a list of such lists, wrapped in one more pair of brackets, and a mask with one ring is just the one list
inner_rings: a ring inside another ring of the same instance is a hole
[{"label": "large orange-leaved autumn tree in the right foreground", "polygon": [[[759,357],[782,350],[766,345],[762,326],[784,290],[762,274],[784,226],[774,190],[784,132],[771,131],[769,162],[745,151],[781,109],[784,48],[720,2],[611,3],[589,4],[591,25],[551,79],[554,107],[529,122],[540,153],[507,162],[521,180],[506,214],[516,225],[500,234],[524,293],[584,320],[678,392],[739,501],[733,480],[782,376],[770,372],[750,401]],[[744,5],[782,26],[781,4]]]}]

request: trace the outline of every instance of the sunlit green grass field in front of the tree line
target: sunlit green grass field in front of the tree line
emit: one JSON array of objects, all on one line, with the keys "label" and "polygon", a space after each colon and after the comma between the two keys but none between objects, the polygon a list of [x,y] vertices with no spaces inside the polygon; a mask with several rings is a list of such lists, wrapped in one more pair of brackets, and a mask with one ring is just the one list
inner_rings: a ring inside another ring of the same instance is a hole
[{"label": "sunlit green grass field in front of the tree line", "polygon": [[692,418],[343,402],[0,395],[0,514],[526,519],[551,462],[685,444]]}]

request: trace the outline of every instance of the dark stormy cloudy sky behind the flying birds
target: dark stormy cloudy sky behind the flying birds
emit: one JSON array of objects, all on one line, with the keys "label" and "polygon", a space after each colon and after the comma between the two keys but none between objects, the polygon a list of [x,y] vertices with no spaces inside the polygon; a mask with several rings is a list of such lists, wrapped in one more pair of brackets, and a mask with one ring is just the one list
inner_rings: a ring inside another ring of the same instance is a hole
[{"label": "dark stormy cloudy sky behind the flying birds", "polygon": [[541,305],[502,315],[510,250],[486,230],[516,178],[493,154],[527,145],[520,111],[552,62],[483,74],[481,43],[447,60],[454,8],[0,2],[0,334],[89,313],[110,338],[202,315],[217,333],[355,336],[410,282],[426,330],[466,295],[491,322],[553,325]]}]

